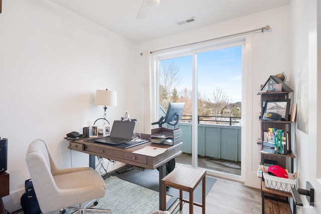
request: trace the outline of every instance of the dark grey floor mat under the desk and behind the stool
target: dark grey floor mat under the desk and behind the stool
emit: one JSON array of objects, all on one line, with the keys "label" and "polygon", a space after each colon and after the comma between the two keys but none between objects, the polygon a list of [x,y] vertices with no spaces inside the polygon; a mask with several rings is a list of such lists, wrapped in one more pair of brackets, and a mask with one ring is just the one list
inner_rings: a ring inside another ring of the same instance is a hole
[{"label": "dark grey floor mat under the desk and behind the stool", "polygon": [[[132,169],[121,173],[115,172],[112,173],[112,175],[155,191],[159,190],[158,171],[156,169],[145,169],[144,171]],[[206,195],[209,193],[215,182],[215,178],[206,176]],[[180,191],[175,188],[170,188],[167,189],[166,194],[173,197],[179,197]],[[183,191],[183,198],[189,200],[189,193]],[[202,203],[202,181],[194,190],[194,201]]]}]

